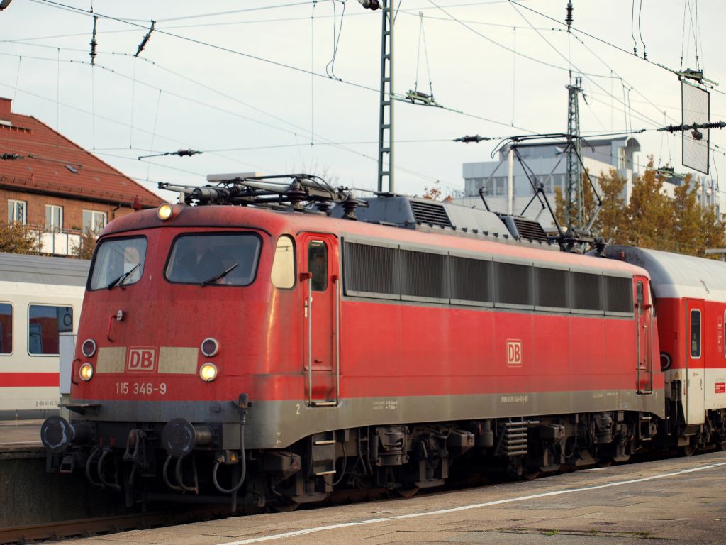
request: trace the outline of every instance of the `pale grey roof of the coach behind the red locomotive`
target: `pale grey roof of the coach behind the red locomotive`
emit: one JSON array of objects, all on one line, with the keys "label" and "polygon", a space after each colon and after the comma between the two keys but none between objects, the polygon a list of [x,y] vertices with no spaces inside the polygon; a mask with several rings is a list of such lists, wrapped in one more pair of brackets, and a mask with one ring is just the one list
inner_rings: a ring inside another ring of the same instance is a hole
[{"label": "pale grey roof of the coach behind the red locomotive", "polygon": [[609,246],[605,254],[619,259],[620,252],[625,261],[648,270],[656,297],[726,301],[725,262],[635,246]]}]

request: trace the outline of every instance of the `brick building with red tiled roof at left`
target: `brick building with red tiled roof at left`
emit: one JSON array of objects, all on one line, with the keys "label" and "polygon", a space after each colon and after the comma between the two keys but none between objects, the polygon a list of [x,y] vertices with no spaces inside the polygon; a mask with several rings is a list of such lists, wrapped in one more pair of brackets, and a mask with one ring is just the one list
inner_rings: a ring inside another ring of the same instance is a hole
[{"label": "brick building with red tiled roof at left", "polygon": [[40,251],[68,255],[83,230],[162,199],[0,97],[0,218],[28,225]]}]

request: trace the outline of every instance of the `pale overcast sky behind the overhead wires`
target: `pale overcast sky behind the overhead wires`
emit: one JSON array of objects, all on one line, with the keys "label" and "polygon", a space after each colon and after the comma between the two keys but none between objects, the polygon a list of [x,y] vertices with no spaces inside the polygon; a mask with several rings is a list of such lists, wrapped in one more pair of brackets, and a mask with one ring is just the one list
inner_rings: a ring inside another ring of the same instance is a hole
[{"label": "pale overcast sky behind the overhead wires", "polygon": [[[393,90],[433,91],[448,108],[395,103],[397,191],[420,194],[436,180],[463,190],[462,163],[489,161],[497,143],[452,142],[465,134],[566,132],[569,68],[584,73],[584,134],[648,129],[637,135],[640,163],[653,155],[687,170],[680,137],[654,130],[680,124],[680,82],[653,63],[700,65],[722,84],[711,120],[726,120],[726,3],[573,0],[571,34],[566,3],[396,1]],[[380,11],[356,0],[12,0],[0,12],[0,96],[152,190],[250,171],[373,189],[380,30]],[[711,131],[714,178],[726,173],[725,136]],[[181,148],[203,153],[138,159]]]}]

